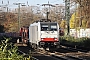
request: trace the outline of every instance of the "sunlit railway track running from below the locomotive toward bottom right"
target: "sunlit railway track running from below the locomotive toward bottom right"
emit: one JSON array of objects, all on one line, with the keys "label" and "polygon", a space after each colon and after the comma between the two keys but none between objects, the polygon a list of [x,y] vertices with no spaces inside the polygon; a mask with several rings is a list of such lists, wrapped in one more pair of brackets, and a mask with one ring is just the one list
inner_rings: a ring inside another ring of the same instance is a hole
[{"label": "sunlit railway track running from below the locomotive toward bottom right", "polygon": [[86,60],[85,58],[78,57],[80,53],[78,53],[77,56],[75,56],[75,54],[71,55],[70,53],[60,53],[60,52],[52,53],[52,52],[44,51],[44,50],[41,50],[37,53],[45,55],[45,56],[57,58],[57,60]]}]

